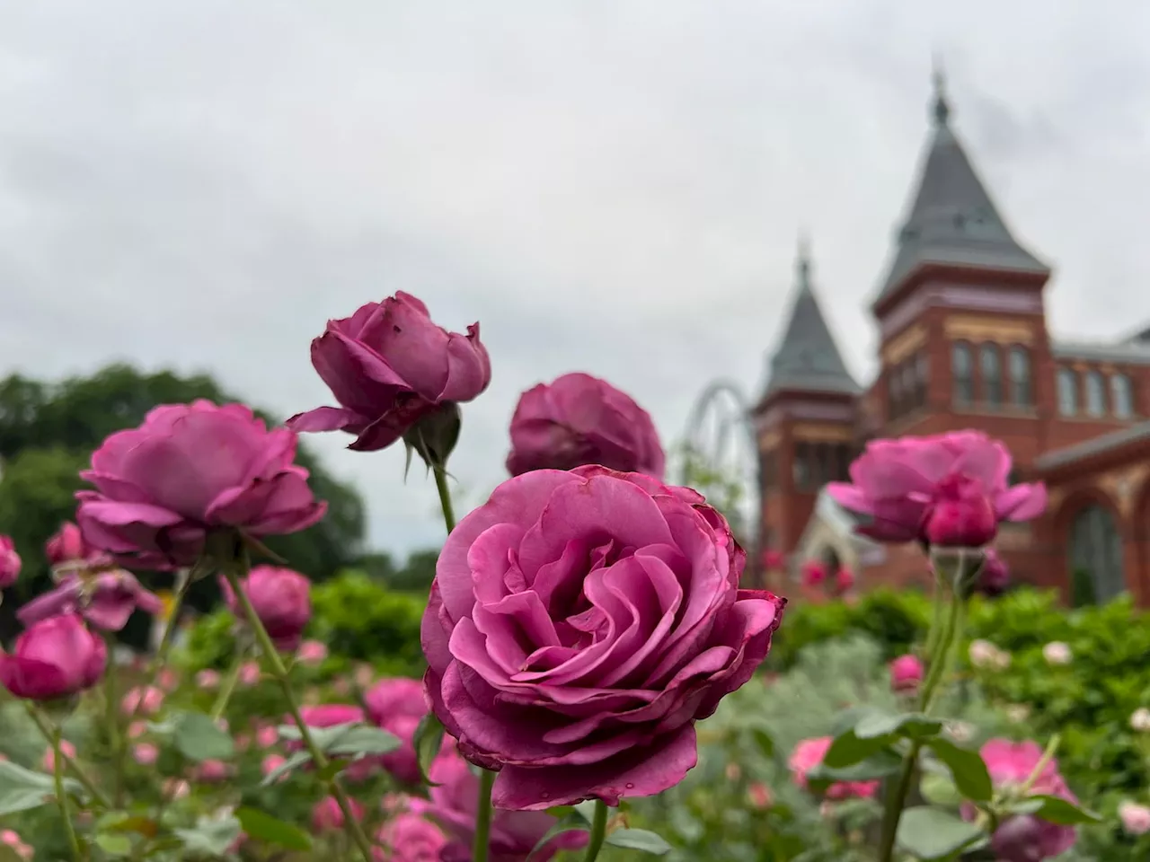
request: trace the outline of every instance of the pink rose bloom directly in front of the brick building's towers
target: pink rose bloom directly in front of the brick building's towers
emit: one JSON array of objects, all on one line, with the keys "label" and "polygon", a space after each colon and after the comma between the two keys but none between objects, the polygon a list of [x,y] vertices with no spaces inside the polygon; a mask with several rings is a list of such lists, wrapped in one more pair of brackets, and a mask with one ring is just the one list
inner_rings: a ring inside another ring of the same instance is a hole
[{"label": "pink rose bloom directly in front of the brick building's towers", "polygon": [[880,541],[981,547],[999,521],[1029,521],[1046,507],[1042,483],[1007,486],[1011,456],[981,431],[874,440],[851,464],[851,484],[828,493],[871,517],[859,530]]}]

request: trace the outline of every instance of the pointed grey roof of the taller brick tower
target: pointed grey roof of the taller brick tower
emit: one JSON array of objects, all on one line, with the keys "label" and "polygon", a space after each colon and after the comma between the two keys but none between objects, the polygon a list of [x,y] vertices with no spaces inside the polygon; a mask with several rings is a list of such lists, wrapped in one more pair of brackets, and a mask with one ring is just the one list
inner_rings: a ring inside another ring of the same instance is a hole
[{"label": "pointed grey roof of the taller brick tower", "polygon": [[934,132],[919,174],[918,191],[898,233],[894,261],[876,305],[918,268],[937,263],[974,269],[1049,274],[1019,245],[950,125],[950,105],[935,77]]}]

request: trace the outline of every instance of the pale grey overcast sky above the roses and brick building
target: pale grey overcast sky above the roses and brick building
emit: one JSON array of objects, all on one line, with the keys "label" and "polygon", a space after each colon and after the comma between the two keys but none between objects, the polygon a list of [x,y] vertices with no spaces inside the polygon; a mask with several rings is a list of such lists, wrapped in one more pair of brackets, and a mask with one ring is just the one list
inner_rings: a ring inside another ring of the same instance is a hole
[{"label": "pale grey overcast sky above the roses and brick building", "polygon": [[[493,380],[452,470],[503,478],[520,391],[585,370],[666,442],[715,377],[762,383],[812,237],[848,362],[928,132],[931,54],[1058,334],[1150,322],[1150,3],[0,6],[0,374],[208,370],[290,415],[308,343],[397,290]],[[402,453],[320,442],[371,539],[438,541]]]}]

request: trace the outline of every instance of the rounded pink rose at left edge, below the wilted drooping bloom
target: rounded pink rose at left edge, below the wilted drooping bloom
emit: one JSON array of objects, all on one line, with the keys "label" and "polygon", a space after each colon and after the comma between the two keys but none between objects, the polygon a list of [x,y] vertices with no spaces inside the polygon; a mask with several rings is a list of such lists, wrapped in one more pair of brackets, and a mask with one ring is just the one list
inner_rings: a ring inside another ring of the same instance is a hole
[{"label": "rounded pink rose at left edge, below the wilted drooping bloom", "polygon": [[66,614],[30,625],[10,653],[0,651],[0,684],[17,698],[56,700],[91,688],[107,664],[103,638]]}]

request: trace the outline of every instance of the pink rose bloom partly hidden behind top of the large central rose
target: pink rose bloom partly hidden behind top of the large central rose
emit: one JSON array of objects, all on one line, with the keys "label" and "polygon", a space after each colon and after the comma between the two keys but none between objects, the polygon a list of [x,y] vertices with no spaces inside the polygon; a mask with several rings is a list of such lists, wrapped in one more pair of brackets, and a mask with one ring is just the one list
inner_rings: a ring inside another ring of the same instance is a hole
[{"label": "pink rose bloom partly hidden behind top of the large central rose", "polygon": [[569,374],[519,398],[507,471],[601,464],[662,479],[666,456],[651,414],[606,380]]}]

